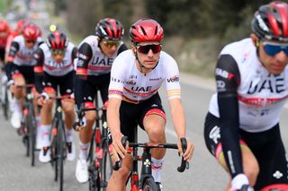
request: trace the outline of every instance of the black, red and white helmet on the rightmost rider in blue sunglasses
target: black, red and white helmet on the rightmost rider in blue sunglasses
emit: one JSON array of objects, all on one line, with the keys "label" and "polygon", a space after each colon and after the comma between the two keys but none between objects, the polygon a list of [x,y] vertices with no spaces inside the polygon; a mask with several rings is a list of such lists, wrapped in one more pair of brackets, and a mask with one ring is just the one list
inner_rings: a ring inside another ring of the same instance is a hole
[{"label": "black, red and white helmet on the rightmost rider in blue sunglasses", "polygon": [[254,14],[252,30],[259,38],[288,41],[288,4],[264,4]]}]

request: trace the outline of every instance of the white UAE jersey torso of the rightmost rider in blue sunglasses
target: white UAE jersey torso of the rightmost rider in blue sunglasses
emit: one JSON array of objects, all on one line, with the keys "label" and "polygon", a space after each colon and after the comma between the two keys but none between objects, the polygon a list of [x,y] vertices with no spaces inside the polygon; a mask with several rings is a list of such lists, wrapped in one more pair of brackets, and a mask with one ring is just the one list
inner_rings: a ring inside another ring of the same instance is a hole
[{"label": "white UAE jersey torso of the rightmost rider in blue sunglasses", "polygon": [[[232,56],[238,65],[240,128],[247,132],[262,132],[275,126],[288,97],[288,66],[282,74],[269,74],[259,62],[251,39],[229,44],[222,49],[220,55]],[[216,73],[226,75],[225,71]],[[211,98],[209,111],[220,117],[217,94]]]}]

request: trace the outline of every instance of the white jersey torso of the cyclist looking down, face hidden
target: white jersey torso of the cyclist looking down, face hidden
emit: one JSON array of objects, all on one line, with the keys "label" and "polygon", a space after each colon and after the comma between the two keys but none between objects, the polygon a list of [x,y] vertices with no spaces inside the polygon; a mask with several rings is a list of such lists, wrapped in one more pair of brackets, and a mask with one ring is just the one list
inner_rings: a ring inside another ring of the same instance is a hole
[{"label": "white jersey torso of the cyclist looking down, face hidden", "polygon": [[72,51],[75,48],[74,44],[69,42],[66,48],[65,57],[61,63],[57,63],[51,56],[51,51],[46,43],[39,47],[43,51],[44,64],[43,71],[52,76],[63,76],[74,69],[74,60],[72,60]]}]

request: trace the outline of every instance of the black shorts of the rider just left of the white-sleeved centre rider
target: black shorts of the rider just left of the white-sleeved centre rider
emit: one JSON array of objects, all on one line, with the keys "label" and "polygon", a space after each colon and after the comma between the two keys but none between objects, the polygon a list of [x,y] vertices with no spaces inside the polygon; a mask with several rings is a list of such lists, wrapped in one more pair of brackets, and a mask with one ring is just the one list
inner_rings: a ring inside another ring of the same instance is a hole
[{"label": "black shorts of the rider just left of the white-sleeved centre rider", "polygon": [[110,83],[110,74],[99,76],[88,75],[83,92],[84,102],[94,102],[96,92],[100,91],[103,103],[108,100],[108,88]]}]

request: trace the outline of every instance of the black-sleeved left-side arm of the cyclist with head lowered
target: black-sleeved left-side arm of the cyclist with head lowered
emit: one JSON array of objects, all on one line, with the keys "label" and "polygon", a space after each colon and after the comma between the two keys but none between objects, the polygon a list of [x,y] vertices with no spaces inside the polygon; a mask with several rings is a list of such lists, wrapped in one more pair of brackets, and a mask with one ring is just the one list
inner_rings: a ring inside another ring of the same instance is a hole
[{"label": "black-sleeved left-side arm of the cyclist with head lowered", "polygon": [[43,65],[44,65],[44,53],[41,48],[38,48],[33,55],[36,60],[36,65],[34,66],[34,74],[35,74],[35,87],[36,91],[41,93],[42,81],[43,81]]}]

